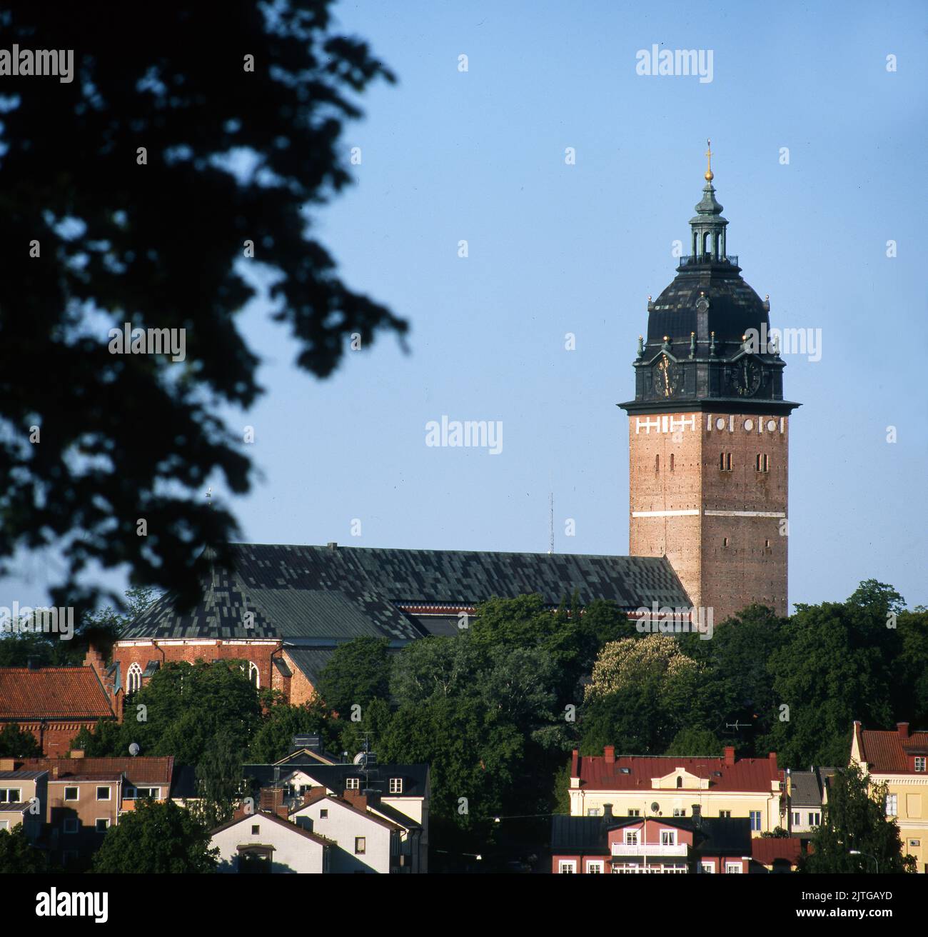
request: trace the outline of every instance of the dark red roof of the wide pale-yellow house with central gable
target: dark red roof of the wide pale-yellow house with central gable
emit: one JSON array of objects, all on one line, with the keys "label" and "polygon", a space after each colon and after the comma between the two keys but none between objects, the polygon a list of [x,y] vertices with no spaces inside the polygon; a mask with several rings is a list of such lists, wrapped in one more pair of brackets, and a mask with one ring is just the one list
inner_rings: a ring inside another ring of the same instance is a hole
[{"label": "dark red roof of the wide pale-yellow house with central gable", "polygon": [[[628,768],[627,774],[622,771],[624,767]],[[663,778],[678,767],[698,778],[708,778],[710,791],[769,793],[772,781],[784,778],[775,758],[742,758],[734,765],[726,765],[724,758],[678,758],[676,755],[622,755],[612,764],[603,755],[576,756],[571,773],[580,778],[582,788],[590,791],[650,791],[653,790],[652,778]]]}]

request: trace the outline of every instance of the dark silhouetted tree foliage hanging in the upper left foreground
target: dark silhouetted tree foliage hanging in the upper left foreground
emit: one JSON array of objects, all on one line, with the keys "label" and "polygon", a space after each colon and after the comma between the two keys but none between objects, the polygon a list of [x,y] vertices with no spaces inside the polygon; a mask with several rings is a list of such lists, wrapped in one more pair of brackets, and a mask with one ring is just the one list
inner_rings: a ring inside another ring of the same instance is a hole
[{"label": "dark silhouetted tree foliage hanging in the upper left foreground", "polygon": [[[214,475],[236,494],[250,485],[219,415],[261,393],[238,319],[249,300],[267,296],[296,364],[320,378],[351,335],[367,348],[405,332],[310,233],[350,181],[340,131],[357,96],[392,80],[330,7],[5,5],[7,43],[75,50],[71,82],[6,77],[0,127],[14,261],[0,329],[16,349],[0,374],[0,558],[59,551],[55,604],[90,602],[88,567],[123,564],[192,600],[202,544],[234,539],[231,514],[201,496]],[[184,360],[110,353],[125,322],[184,330]]]}]

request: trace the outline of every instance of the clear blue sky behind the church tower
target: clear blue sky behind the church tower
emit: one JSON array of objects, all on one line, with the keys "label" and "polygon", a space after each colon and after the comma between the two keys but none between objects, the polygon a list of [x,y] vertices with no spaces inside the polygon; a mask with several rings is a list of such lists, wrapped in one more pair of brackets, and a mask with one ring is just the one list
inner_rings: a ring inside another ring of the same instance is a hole
[{"label": "clear blue sky behind the church tower", "polygon": [[[361,147],[357,185],[315,232],[352,288],[410,321],[411,352],[385,337],[317,381],[266,309],[245,313],[268,393],[235,421],[255,427],[263,474],[232,503],[244,539],[543,552],[552,490],[558,551],[625,554],[615,404],[633,395],[647,296],[674,275],[712,137],[729,253],[774,326],[822,335],[821,360],[788,357],[785,374],[803,403],[790,603],[840,601],[868,577],[928,603],[925,7],[335,9],[399,82],[363,97],[344,136],[346,159]],[[712,50],[713,81],[637,75],[654,43]],[[501,420],[502,453],[427,447],[443,414]],[[42,563],[23,561],[21,602]]]}]

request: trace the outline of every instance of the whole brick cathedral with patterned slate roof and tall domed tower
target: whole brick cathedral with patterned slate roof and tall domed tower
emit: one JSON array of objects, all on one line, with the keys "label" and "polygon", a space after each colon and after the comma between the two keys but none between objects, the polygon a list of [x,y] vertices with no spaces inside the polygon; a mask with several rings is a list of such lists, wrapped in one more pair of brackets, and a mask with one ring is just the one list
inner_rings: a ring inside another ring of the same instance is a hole
[{"label": "whole brick cathedral with patterned slate roof and tall domed tower", "polygon": [[339,644],[368,635],[399,649],[457,634],[493,596],[538,593],[553,609],[576,589],[583,604],[610,600],[628,617],[657,606],[709,610],[716,623],[752,602],[785,615],[788,424],[799,405],[783,399],[778,350],[757,341],[770,304],[728,253],[708,156],[691,253],[649,299],[635,396],[619,405],[629,556],[232,544],[196,607],[164,596],[120,636],[106,670],[116,700],[165,662],[234,659],[256,686],[302,703]]}]

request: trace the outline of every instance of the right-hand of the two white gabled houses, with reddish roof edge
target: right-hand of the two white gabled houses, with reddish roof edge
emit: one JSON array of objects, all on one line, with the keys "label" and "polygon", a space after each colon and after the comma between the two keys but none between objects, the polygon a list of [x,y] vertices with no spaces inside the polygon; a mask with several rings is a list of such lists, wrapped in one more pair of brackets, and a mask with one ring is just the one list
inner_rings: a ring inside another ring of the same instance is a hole
[{"label": "right-hand of the two white gabled houses, with reddish roof edge", "polygon": [[332,872],[405,870],[402,862],[411,856],[401,855],[401,846],[409,832],[408,818],[404,818],[405,825],[393,823],[374,806],[369,807],[367,797],[358,791],[347,791],[340,797],[317,787],[303,795],[303,801],[290,811],[289,819],[331,840]]}]

